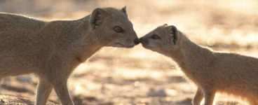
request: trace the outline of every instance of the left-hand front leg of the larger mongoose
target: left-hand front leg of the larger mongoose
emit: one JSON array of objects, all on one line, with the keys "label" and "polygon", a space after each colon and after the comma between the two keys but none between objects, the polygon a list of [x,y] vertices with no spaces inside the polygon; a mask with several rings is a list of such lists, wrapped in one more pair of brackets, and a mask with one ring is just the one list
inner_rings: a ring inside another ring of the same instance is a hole
[{"label": "left-hand front leg of the larger mongoose", "polygon": [[52,85],[47,80],[40,78],[36,93],[36,105],[46,105],[52,89]]}]

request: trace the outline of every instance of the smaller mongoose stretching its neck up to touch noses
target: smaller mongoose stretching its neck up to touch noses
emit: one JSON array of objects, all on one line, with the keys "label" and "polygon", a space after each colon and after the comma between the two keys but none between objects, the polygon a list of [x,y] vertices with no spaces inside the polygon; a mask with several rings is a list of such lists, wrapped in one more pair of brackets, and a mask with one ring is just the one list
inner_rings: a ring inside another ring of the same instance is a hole
[{"label": "smaller mongoose stretching its neck up to touch noses", "polygon": [[162,25],[140,38],[142,46],[175,60],[198,90],[192,104],[212,105],[217,92],[258,105],[258,59],[215,52],[187,38],[175,26]]}]

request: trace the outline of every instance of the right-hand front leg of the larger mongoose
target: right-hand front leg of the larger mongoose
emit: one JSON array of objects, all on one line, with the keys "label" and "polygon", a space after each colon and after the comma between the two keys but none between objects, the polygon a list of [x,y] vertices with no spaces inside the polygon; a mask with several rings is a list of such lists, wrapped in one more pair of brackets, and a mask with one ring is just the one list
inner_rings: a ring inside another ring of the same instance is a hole
[{"label": "right-hand front leg of the larger mongoose", "polygon": [[62,105],[74,105],[67,88],[67,80],[55,80],[53,87]]}]

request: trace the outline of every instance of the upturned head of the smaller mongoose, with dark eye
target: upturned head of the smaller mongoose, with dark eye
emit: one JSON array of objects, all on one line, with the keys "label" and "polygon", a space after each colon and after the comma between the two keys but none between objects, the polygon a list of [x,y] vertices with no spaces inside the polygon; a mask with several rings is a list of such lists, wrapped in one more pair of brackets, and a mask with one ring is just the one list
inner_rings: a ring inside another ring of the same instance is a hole
[{"label": "upturned head of the smaller mongoose, with dark eye", "polygon": [[140,38],[142,46],[164,53],[179,48],[179,31],[175,26],[162,25]]}]

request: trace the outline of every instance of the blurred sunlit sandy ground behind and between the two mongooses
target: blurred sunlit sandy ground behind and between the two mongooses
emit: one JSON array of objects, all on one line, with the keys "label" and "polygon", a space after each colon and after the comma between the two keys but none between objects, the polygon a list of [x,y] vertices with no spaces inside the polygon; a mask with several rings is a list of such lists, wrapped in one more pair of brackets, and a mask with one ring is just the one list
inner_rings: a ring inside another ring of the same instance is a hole
[{"label": "blurred sunlit sandy ground behind and between the two mongooses", "polygon": [[[139,37],[167,23],[213,50],[258,55],[257,0],[0,0],[0,12],[41,20],[75,20],[94,8],[123,6]],[[32,74],[4,78],[1,102],[33,104],[37,81]],[[137,45],[102,48],[72,73],[69,91],[78,105],[190,105],[196,85],[172,59]],[[215,100],[246,104],[223,94]],[[49,101],[59,104],[54,91]]]}]

